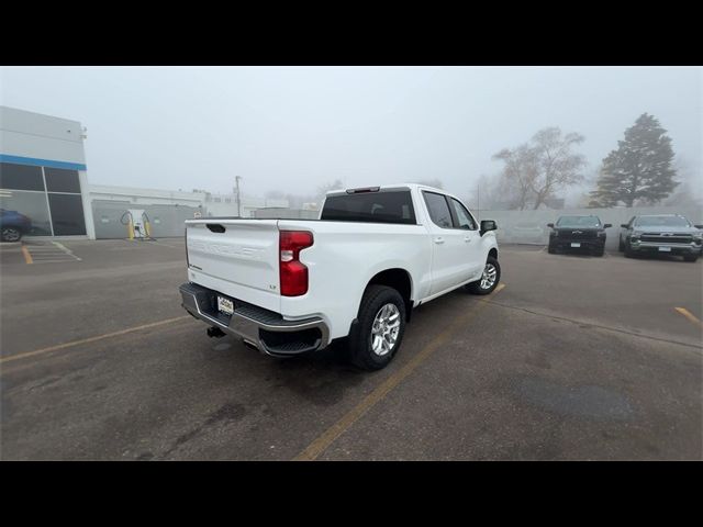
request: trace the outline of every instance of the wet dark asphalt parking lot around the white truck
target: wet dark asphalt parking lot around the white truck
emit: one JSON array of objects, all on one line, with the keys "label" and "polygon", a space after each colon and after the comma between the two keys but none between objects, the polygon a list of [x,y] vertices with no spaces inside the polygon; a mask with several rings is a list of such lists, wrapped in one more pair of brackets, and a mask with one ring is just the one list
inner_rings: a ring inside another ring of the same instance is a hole
[{"label": "wet dark asphalt parking lot around the white truck", "polygon": [[181,239],[60,244],[0,247],[4,460],[703,458],[700,260],[504,246],[369,373],[208,338]]}]

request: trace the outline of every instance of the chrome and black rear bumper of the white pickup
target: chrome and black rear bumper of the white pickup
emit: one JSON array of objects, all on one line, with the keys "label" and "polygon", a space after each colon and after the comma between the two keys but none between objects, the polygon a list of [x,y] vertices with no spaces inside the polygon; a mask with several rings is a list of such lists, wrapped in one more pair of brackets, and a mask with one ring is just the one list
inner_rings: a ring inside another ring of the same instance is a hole
[{"label": "chrome and black rear bumper of the white pickup", "polygon": [[234,313],[225,315],[217,311],[220,293],[216,291],[192,282],[181,284],[179,290],[181,305],[192,316],[244,339],[265,354],[289,357],[322,349],[330,344],[330,329],[320,317],[286,321],[278,313],[237,299],[231,299]]}]

